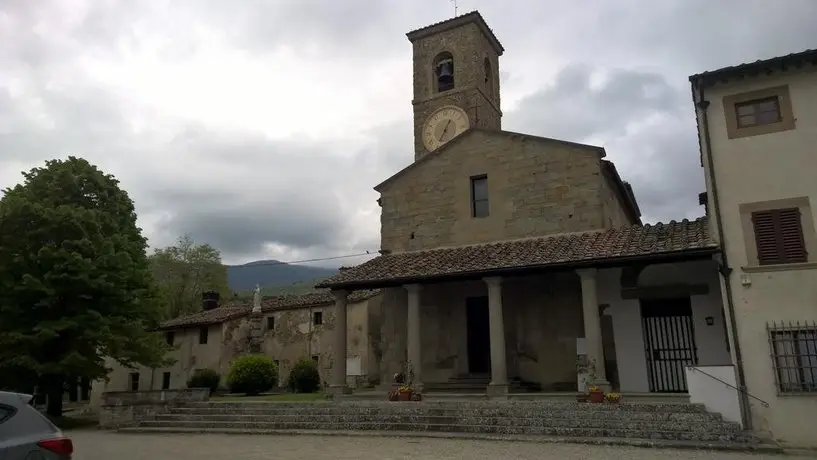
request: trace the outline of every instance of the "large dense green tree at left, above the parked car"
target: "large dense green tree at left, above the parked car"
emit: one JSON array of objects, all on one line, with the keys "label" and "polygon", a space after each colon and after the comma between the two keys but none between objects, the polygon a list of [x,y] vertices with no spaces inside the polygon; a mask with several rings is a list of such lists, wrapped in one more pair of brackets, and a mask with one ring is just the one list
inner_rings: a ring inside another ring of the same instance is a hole
[{"label": "large dense green tree at left, above the parked car", "polygon": [[[166,364],[147,241],[119,182],[68,157],[23,173],[0,199],[0,375],[36,378],[62,414],[66,379],[105,378],[105,358]],[[20,385],[20,382],[16,382]]]}]

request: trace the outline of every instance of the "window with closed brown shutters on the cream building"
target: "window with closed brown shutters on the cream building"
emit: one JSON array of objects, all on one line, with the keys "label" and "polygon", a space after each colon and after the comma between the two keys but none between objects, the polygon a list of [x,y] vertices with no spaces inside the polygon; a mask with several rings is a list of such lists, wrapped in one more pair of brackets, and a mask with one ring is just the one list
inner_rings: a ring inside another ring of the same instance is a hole
[{"label": "window with closed brown shutters on the cream building", "polygon": [[752,213],[758,265],[808,262],[799,208]]}]

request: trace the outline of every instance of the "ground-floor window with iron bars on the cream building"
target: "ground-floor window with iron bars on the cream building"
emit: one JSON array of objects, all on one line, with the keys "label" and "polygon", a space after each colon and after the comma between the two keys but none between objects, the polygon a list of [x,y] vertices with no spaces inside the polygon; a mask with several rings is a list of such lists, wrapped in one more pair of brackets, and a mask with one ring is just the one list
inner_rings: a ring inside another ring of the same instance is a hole
[{"label": "ground-floor window with iron bars on the cream building", "polygon": [[778,392],[817,392],[817,323],[767,325]]}]

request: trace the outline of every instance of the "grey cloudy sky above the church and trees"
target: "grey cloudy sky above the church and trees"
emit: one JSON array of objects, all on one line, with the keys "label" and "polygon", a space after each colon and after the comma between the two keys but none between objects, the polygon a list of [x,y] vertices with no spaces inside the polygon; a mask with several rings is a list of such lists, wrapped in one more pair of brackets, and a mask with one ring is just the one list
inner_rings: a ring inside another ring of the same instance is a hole
[{"label": "grey cloudy sky above the church and trees", "polygon": [[[772,7],[774,5],[774,7]],[[459,0],[506,49],[503,126],[603,145],[646,221],[702,213],[687,77],[817,47],[815,0]],[[413,159],[409,30],[450,0],[0,0],[0,188],[82,156],[151,245],[376,251]],[[354,264],[347,259],[325,264]]]}]

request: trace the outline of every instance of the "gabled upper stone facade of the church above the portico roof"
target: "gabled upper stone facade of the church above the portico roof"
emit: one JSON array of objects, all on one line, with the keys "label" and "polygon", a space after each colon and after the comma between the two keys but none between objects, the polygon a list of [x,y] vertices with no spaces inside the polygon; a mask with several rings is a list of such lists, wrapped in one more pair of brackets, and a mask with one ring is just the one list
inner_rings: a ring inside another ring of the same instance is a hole
[{"label": "gabled upper stone facade of the church above the portico roof", "polygon": [[[600,150],[472,131],[380,187],[381,246],[393,252],[605,227]],[[471,216],[487,174],[490,216]]]}]

